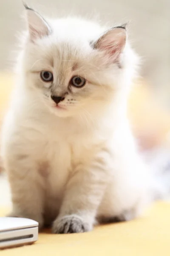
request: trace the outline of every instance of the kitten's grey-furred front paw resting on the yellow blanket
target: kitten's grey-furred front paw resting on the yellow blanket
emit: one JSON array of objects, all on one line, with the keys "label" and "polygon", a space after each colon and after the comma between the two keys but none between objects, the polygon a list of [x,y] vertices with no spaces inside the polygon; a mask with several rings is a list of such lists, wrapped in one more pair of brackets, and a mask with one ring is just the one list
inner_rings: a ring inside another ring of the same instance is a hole
[{"label": "kitten's grey-furred front paw resting on the yellow blanket", "polygon": [[76,214],[57,218],[52,227],[53,233],[82,233],[92,230],[92,225],[85,223],[81,217]]}]

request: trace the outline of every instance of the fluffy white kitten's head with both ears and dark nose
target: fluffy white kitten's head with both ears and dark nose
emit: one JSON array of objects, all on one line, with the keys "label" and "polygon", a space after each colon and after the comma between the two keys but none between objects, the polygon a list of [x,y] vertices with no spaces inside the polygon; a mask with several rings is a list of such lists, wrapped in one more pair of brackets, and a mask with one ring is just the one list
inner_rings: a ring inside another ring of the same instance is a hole
[{"label": "fluffy white kitten's head with both ears and dark nose", "polygon": [[45,20],[27,6],[26,14],[26,85],[58,116],[105,106],[122,83],[127,86],[134,56],[125,26],[105,30],[81,19]]}]

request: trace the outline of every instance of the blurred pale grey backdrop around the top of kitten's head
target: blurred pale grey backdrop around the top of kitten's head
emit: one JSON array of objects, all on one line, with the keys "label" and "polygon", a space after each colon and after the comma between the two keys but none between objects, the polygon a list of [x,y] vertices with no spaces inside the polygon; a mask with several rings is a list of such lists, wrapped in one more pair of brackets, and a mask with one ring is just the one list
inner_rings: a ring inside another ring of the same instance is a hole
[{"label": "blurred pale grey backdrop around the top of kitten's head", "polygon": [[[26,0],[41,14],[99,16],[111,26],[130,21],[130,39],[142,56],[142,76],[154,87],[169,88],[170,0]],[[0,71],[11,70],[17,32],[25,27],[22,0],[0,0]],[[161,90],[164,92],[164,90]],[[170,89],[169,89],[170,95]]]}]

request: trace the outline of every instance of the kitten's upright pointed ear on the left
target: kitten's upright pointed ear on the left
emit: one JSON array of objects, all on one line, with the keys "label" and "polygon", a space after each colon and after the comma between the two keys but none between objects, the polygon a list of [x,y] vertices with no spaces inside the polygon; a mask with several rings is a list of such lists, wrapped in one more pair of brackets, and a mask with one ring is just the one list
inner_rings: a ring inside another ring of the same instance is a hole
[{"label": "kitten's upright pointed ear on the left", "polygon": [[24,4],[26,8],[26,19],[28,24],[29,38],[34,42],[38,38],[42,38],[51,34],[51,28],[44,18],[33,9]]}]

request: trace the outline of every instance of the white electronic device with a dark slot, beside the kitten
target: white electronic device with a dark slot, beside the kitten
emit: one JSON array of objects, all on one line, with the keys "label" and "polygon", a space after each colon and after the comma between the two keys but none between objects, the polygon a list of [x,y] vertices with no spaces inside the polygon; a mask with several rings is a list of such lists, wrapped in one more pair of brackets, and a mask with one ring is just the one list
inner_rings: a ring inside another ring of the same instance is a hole
[{"label": "white electronic device with a dark slot, beside the kitten", "polygon": [[37,221],[27,218],[0,217],[0,249],[32,244],[37,240]]}]

